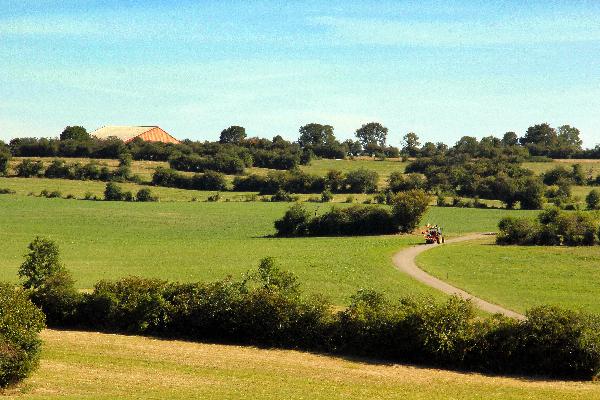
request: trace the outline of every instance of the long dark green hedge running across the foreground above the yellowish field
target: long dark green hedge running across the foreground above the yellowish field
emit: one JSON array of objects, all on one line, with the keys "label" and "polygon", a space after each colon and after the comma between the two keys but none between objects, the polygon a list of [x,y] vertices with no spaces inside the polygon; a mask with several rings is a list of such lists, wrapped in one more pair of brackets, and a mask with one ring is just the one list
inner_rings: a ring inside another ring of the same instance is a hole
[{"label": "long dark green hedge running across the foreground above the yellowish field", "polygon": [[[68,292],[68,291],[67,291]],[[242,281],[101,281],[64,302],[60,327],[249,343],[494,373],[592,378],[600,372],[598,317],[539,307],[524,321],[475,315],[470,302],[359,291],[335,311],[264,259]]]}]

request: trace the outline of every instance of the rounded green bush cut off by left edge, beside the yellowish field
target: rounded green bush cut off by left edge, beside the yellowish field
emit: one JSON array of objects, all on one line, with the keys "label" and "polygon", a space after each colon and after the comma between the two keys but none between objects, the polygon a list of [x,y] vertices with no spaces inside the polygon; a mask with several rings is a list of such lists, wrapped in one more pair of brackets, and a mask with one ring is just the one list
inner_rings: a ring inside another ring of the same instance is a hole
[{"label": "rounded green bush cut off by left edge, beside the yellowish field", "polygon": [[0,387],[26,378],[38,364],[44,315],[24,290],[0,283]]}]

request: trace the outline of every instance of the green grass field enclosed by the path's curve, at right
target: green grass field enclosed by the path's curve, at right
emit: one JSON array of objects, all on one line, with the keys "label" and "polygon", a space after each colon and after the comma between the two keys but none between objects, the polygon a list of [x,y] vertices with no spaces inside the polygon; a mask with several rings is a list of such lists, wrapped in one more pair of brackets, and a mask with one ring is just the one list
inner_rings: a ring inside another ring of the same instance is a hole
[{"label": "green grass field enclosed by the path's curve, at right", "polygon": [[600,312],[600,246],[497,246],[493,239],[421,254],[427,272],[485,300],[524,312],[541,304]]}]

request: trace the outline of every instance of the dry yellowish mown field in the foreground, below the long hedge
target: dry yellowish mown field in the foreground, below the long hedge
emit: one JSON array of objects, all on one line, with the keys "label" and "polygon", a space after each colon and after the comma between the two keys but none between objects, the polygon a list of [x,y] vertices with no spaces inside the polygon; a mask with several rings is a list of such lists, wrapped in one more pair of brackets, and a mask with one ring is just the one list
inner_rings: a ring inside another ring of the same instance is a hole
[{"label": "dry yellowish mown field in the foreground, below the long hedge", "polygon": [[592,382],[529,380],[290,350],[92,332],[42,333],[40,369],[6,399],[600,399]]}]

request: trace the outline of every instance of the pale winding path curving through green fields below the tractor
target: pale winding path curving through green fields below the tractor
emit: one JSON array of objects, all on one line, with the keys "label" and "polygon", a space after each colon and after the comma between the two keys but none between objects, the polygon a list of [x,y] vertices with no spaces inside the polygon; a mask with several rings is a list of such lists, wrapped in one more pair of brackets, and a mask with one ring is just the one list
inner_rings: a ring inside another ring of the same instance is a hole
[{"label": "pale winding path curving through green fields below the tractor", "polygon": [[[446,240],[446,243],[458,243],[458,242],[464,242],[467,240],[482,239],[489,235],[490,235],[489,233],[473,233],[473,234],[469,234],[469,235],[465,235],[465,236],[460,236],[460,237],[457,237],[454,239]],[[423,253],[424,251],[434,248],[435,246],[436,245],[421,244],[421,245],[409,247],[407,249],[401,250],[398,253],[394,254],[394,257],[392,260],[394,262],[394,265],[396,266],[396,268],[399,271],[402,271],[402,272],[412,276],[419,282],[422,282],[422,283],[426,284],[427,286],[430,286],[434,289],[440,290],[446,294],[457,295],[459,297],[462,297],[463,299],[471,300],[471,302],[476,307],[482,309],[483,311],[487,311],[492,314],[500,313],[500,314],[506,315],[507,317],[516,318],[516,319],[525,319],[525,316],[522,314],[508,310],[497,304],[488,303],[487,301],[482,300],[478,297],[475,297],[475,296],[465,292],[462,289],[454,287],[434,276],[429,275],[427,272],[420,269],[415,262],[416,257],[419,254]]]}]

